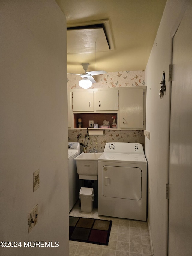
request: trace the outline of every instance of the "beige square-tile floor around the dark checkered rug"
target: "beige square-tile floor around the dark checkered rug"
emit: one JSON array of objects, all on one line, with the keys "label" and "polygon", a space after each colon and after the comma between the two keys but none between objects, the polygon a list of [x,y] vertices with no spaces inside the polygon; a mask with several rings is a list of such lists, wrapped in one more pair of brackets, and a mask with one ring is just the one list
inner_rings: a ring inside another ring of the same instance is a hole
[{"label": "beige square-tile floor around the dark checkered rug", "polygon": [[98,215],[98,209],[91,213],[81,212],[79,203],[73,207],[70,216],[113,220],[109,244],[69,241],[70,256],[151,256],[149,230],[146,221],[114,218]]}]

